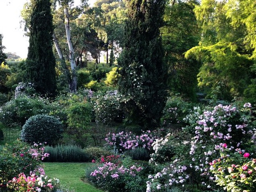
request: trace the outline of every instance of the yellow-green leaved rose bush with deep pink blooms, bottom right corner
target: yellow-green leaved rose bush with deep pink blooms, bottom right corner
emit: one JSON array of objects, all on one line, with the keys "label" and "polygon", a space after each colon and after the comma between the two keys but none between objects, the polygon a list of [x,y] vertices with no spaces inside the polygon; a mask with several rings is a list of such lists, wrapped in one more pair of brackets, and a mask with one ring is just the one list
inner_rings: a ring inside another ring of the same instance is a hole
[{"label": "yellow-green leaved rose bush with deep pink blooms, bottom right corner", "polygon": [[210,171],[215,174],[217,185],[230,192],[256,191],[256,159],[248,158],[249,153],[226,149],[218,160],[211,162]]}]

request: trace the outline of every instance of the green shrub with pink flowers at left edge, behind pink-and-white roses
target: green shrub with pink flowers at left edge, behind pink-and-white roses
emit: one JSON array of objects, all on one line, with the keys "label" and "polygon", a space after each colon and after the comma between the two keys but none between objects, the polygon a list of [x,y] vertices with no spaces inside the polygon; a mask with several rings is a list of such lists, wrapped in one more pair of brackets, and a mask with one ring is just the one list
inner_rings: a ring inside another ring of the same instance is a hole
[{"label": "green shrub with pink flowers at left edge, behind pink-and-white roses", "polygon": [[17,140],[11,146],[6,144],[0,149],[0,191],[7,189],[7,182],[19,173],[30,174],[41,161],[48,157],[43,144],[28,145]]}]

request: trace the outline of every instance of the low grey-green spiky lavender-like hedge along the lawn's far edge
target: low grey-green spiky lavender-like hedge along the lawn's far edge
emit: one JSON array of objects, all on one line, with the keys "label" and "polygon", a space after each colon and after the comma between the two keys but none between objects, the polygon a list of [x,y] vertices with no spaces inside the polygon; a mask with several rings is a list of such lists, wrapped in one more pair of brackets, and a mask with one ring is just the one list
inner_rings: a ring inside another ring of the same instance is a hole
[{"label": "low grey-green spiky lavender-like hedge along the lawn's far edge", "polygon": [[46,153],[50,156],[45,162],[87,162],[87,153],[78,145],[56,145],[46,146]]}]

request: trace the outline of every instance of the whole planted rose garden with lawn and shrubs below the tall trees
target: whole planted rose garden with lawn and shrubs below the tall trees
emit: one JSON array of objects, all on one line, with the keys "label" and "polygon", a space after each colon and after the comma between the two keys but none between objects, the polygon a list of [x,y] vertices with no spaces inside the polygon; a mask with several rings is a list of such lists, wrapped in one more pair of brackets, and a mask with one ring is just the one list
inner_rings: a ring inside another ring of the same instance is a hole
[{"label": "whole planted rose garden with lawn and shrubs below the tall trees", "polygon": [[48,100],[32,96],[31,84],[22,87],[1,107],[2,192],[256,190],[250,103],[195,104],[173,95],[161,127],[143,130],[120,123],[118,91]]}]

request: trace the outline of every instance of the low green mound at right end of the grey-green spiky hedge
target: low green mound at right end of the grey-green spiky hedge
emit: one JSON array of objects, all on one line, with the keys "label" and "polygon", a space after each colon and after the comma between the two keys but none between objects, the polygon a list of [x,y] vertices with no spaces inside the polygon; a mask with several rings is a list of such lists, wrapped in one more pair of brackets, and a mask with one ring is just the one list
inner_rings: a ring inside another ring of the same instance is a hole
[{"label": "low green mound at right end of the grey-green spiky hedge", "polygon": [[112,155],[112,153],[102,147],[88,147],[84,149],[85,153],[87,153],[89,161],[97,160],[102,156]]}]

